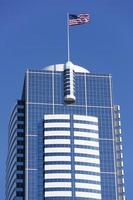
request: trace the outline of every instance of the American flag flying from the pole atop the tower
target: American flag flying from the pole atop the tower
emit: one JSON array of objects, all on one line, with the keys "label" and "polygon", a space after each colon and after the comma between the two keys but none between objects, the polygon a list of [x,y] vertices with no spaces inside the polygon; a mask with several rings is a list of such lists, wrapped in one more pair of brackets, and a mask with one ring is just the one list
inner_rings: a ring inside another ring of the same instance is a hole
[{"label": "American flag flying from the pole atop the tower", "polygon": [[69,14],[69,26],[75,26],[90,22],[89,14],[73,15]]}]

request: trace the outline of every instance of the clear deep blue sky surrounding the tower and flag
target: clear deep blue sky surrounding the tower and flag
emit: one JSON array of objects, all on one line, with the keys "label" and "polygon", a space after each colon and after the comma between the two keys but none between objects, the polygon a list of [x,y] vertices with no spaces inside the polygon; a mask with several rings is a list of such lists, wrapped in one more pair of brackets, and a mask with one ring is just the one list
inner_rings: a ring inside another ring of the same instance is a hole
[{"label": "clear deep blue sky surrounding the tower and flag", "polygon": [[7,126],[21,95],[27,67],[67,60],[66,13],[90,13],[91,23],[71,29],[71,60],[113,75],[121,106],[127,199],[133,179],[133,1],[0,0],[0,200],[4,200]]}]

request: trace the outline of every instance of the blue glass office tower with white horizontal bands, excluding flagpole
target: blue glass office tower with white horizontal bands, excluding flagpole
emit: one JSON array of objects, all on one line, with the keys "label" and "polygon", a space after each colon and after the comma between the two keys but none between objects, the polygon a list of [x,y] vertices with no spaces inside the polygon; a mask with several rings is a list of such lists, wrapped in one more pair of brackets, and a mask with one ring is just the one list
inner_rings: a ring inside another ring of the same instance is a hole
[{"label": "blue glass office tower with white horizontal bands, excluding flagpole", "polygon": [[9,122],[6,200],[124,200],[110,74],[71,62],[27,70]]}]

